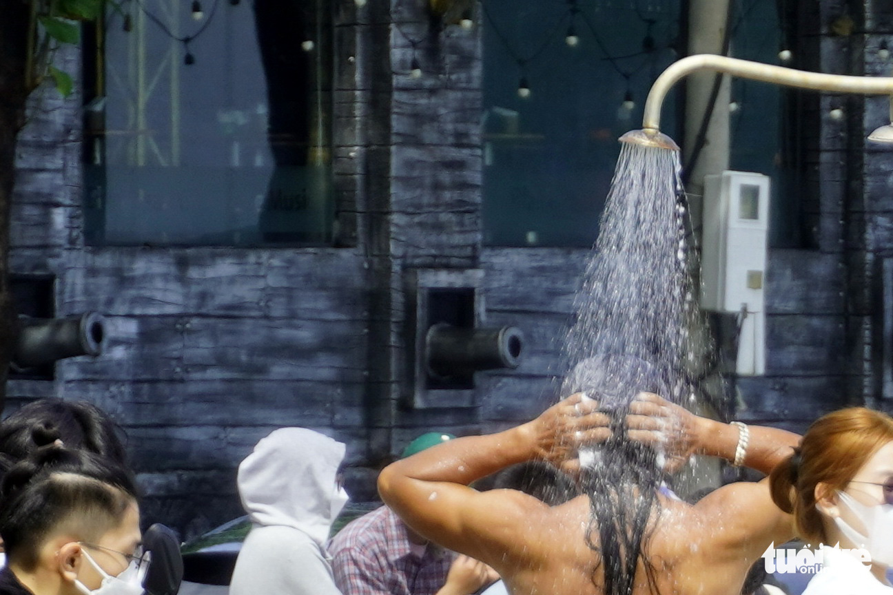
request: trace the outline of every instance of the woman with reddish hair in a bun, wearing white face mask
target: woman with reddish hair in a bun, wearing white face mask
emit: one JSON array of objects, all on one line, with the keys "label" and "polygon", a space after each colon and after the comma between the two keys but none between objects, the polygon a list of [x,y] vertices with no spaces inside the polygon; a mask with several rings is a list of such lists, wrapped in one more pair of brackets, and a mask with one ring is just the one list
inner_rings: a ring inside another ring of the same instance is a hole
[{"label": "woman with reddish hair in a bun, wearing white face mask", "polygon": [[[864,408],[820,417],[772,471],[770,487],[797,534],[822,544],[822,570],[804,595],[893,595],[886,577],[893,567],[893,419]],[[867,550],[871,566],[854,550]]]}]

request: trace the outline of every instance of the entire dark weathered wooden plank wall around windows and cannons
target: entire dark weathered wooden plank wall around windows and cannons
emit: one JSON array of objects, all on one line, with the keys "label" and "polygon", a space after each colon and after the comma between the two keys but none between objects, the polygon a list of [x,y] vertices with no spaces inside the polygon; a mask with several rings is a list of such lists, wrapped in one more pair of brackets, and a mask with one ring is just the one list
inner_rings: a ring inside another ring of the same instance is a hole
[{"label": "entire dark weathered wooden plank wall around windows and cannons", "polygon": [[[800,40],[815,56],[804,67],[852,72],[880,37],[839,36],[829,23],[853,6],[819,4]],[[357,493],[371,498],[375,468],[415,435],[527,420],[561,374],[556,345],[588,251],[481,246],[480,29],[431,29],[423,2],[337,5],[338,247],[87,247],[79,98],[42,95],[21,136],[14,269],[54,275],[59,314],[99,311],[109,337],[102,357],[61,362],[54,381],[11,382],[9,408],[59,395],[108,410],[128,431],[146,517],[186,537],[241,514],[235,468],[274,427],[345,441]],[[875,16],[866,27],[889,20]],[[413,45],[421,79],[409,76]],[[64,59],[78,69],[76,53]],[[828,105],[816,100],[804,138],[808,241],[770,257],[767,374],[737,381],[740,417],[796,429],[880,402],[874,333],[890,302],[877,298],[878,262],[893,253],[890,153],[850,140],[886,103],[848,103],[843,123]],[[416,269],[483,270],[487,323],[526,336],[521,366],[481,374],[473,407],[403,405]]]}]

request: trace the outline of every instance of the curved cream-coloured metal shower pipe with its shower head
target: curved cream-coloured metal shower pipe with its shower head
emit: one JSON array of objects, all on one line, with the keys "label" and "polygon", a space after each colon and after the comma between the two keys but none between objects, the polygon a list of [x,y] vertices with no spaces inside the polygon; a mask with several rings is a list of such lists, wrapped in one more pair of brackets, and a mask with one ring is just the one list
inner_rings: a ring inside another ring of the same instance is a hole
[{"label": "curved cream-coloured metal shower pipe with its shower head", "polygon": [[[673,62],[651,86],[645,102],[645,115],[642,118],[644,136],[655,139],[660,133],[661,107],[670,88],[698,70],[715,70],[742,79],[762,80],[766,83],[814,89],[816,91],[832,91],[854,93],[860,95],[893,95],[893,78],[890,77],[854,77],[842,74],[822,74],[773,66],[762,62],[750,62],[739,58],[716,54],[696,54]],[[890,105],[890,120],[893,121],[893,103]],[[875,131],[877,132],[877,131]],[[875,133],[872,133],[872,136]],[[663,136],[663,135],[661,135]],[[637,142],[635,137],[626,139]]]}]

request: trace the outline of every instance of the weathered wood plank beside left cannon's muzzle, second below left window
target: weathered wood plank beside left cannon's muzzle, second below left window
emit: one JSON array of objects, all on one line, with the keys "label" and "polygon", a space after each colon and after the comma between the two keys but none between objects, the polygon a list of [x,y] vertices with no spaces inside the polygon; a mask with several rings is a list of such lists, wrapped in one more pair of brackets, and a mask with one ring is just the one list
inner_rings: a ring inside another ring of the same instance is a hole
[{"label": "weathered wood plank beside left cannon's muzzle, second below left window", "polygon": [[104,354],[60,362],[63,378],[359,382],[363,376],[366,344],[361,323],[189,317],[106,321]]}]

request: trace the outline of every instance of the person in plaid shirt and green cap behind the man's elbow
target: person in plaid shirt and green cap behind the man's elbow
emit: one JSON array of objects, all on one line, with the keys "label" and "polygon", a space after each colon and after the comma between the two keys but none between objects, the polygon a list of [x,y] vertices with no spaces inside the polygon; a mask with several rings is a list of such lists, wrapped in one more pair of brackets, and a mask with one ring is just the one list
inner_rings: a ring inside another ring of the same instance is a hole
[{"label": "person in plaid shirt and green cap behind the man's elbow", "polygon": [[[403,457],[453,437],[422,434]],[[386,506],[346,525],[330,541],[329,553],[344,595],[472,595],[498,578],[489,566],[413,532]]]}]

